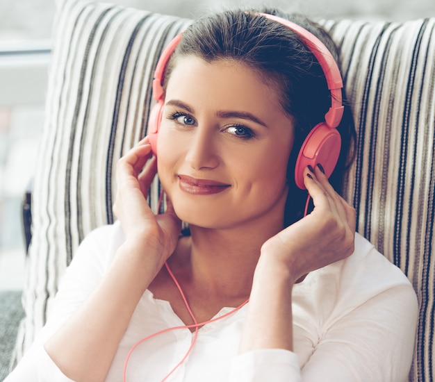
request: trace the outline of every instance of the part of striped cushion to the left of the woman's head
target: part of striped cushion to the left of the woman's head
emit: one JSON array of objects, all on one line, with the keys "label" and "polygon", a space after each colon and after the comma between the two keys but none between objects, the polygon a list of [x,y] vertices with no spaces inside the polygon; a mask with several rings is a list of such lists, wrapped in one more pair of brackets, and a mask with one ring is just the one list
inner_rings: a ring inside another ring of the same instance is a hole
[{"label": "part of striped cushion to the left of the woman's head", "polygon": [[[190,24],[91,1],[58,7],[18,359],[44,324],[76,247],[92,229],[113,222],[115,165],[146,135],[161,50]],[[154,210],[159,193],[154,182]]]}]

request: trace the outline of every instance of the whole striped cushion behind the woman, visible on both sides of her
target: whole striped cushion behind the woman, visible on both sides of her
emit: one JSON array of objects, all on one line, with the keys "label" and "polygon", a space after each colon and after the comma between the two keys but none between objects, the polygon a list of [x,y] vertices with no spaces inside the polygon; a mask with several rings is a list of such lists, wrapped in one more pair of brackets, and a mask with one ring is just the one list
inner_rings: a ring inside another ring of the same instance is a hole
[{"label": "whole striped cushion behind the woman, visible on both sides of her", "polygon": [[[15,360],[44,324],[59,278],[83,237],[113,222],[115,163],[146,134],[156,60],[190,23],[87,0],[58,1],[58,7],[33,190],[26,319]],[[416,288],[420,324],[410,380],[431,381],[435,19],[323,24],[342,50],[359,132],[343,194],[356,207],[359,232]],[[157,194],[154,183],[153,208]]]}]

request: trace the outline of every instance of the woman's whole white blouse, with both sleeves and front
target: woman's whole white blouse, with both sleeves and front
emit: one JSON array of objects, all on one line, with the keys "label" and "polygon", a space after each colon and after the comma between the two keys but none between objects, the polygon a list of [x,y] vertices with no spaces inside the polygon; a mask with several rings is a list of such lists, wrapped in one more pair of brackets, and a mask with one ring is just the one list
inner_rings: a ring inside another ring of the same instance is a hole
[{"label": "woman's whole white blouse, with both sleeves and front", "polygon": [[[47,324],[5,382],[71,381],[43,344],[99,283],[123,240],[119,223],[92,231],[83,240],[63,277]],[[232,309],[222,308],[215,317]],[[416,294],[400,269],[359,234],[352,256],[311,272],[293,287],[294,352],[265,349],[239,355],[246,309],[243,306],[202,326],[185,362],[166,381],[407,381],[418,319]],[[128,363],[126,359],[140,340],[175,326],[183,322],[169,302],[154,299],[147,290],[106,381],[122,381],[124,365],[127,382],[162,381],[186,356],[194,336],[189,329],[146,340]]]}]

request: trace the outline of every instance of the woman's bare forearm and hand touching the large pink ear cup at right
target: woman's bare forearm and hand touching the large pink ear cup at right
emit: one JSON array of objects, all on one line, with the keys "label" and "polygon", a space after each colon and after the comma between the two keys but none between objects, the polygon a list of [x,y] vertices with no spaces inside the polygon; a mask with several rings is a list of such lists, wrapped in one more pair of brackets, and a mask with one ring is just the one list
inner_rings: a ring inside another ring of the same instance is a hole
[{"label": "woman's bare forearm and hand touching the large pink ear cup at right", "polygon": [[354,209],[334,191],[320,169],[306,169],[305,184],[313,197],[313,212],[261,248],[240,353],[254,349],[293,351],[293,329],[288,324],[293,321],[293,285],[309,272],[354,251]]}]

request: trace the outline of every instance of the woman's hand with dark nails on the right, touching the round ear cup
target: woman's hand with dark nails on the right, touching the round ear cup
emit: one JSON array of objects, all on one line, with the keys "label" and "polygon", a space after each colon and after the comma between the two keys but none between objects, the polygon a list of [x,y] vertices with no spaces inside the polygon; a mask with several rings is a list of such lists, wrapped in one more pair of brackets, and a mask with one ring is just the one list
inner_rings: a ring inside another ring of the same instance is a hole
[{"label": "woman's hand with dark nails on the right, touching the round ear cup", "polygon": [[294,281],[350,256],[354,251],[355,210],[332,188],[319,167],[304,175],[313,211],[263,244],[261,262],[286,267]]}]

